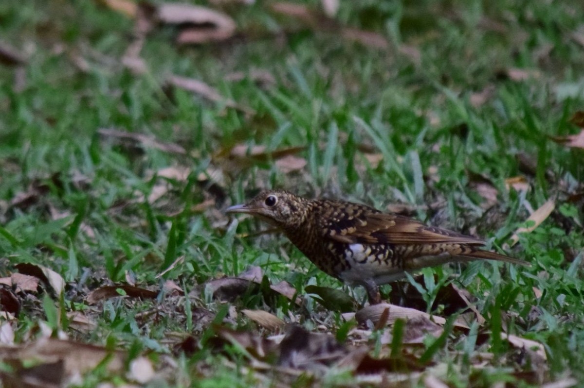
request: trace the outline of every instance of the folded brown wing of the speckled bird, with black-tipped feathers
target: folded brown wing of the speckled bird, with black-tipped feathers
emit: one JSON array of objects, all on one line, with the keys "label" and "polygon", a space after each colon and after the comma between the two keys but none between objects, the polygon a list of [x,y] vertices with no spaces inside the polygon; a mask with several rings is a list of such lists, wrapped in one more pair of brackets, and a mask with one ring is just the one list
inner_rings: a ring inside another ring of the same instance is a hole
[{"label": "folded brown wing of the speckled bird, with black-tipped feathers", "polygon": [[427,226],[412,218],[381,213],[360,204],[343,205],[322,207],[318,227],[325,238],[347,244],[484,245],[480,239]]}]

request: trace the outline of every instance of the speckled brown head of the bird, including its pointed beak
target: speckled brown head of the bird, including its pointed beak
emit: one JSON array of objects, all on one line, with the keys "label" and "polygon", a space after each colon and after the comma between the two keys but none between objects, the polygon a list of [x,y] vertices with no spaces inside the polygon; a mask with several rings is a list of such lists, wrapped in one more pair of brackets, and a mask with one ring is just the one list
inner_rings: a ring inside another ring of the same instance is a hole
[{"label": "speckled brown head of the bird, including its pointed beak", "polygon": [[246,204],[228,207],[227,213],[246,213],[283,229],[303,223],[310,200],[283,190],[266,190]]}]

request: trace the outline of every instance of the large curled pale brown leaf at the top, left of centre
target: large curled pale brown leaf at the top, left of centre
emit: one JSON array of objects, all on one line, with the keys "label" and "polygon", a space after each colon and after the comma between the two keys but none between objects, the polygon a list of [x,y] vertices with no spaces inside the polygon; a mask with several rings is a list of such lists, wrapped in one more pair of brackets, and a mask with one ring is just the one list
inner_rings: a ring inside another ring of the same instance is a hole
[{"label": "large curled pale brown leaf at the top, left of centre", "polygon": [[158,7],[158,20],[166,24],[187,25],[177,38],[180,44],[198,44],[228,39],[235,33],[230,16],[203,6],[163,3]]}]

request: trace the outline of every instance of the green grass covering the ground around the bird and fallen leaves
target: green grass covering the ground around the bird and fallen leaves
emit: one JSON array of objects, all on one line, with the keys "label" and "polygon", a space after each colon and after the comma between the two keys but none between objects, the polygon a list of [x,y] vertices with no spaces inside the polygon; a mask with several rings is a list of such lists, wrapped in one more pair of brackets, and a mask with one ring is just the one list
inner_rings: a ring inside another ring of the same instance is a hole
[{"label": "green grass covering the ground around the bird and fallen leaves", "polygon": [[[318,2],[308,4],[318,8]],[[2,40],[28,58],[20,89],[19,70],[0,67],[0,277],[27,262],[49,267],[68,282],[61,300],[48,291],[44,297],[27,294],[15,323],[16,343],[33,338],[39,324],[48,322],[76,340],[133,355],[172,354],[175,365],[163,368],[161,386],[252,386],[249,360],[237,350],[225,357],[203,343],[194,355],[173,353],[172,333],[211,336],[190,316],[197,308],[223,311],[204,292],[176,306],[131,298],[88,306],[86,294],[128,279],[150,286],[173,280],[188,294],[197,284],[255,265],[272,283],[292,284],[305,308],[281,297],[269,305],[248,294],[235,302],[237,310],[267,309],[285,320],[296,316],[308,329],[324,322],[335,332],[342,319],[305,296],[304,287],[340,283],[282,237],[237,237],[261,225],[249,219],[228,223],[225,206],[270,187],[378,208],[436,204],[416,207],[413,216],[478,232],[501,249],[530,209],[555,197],[551,216],[507,251],[531,267],[449,266],[425,271],[425,287],[456,274],[486,318],[471,333],[510,328],[544,344],[547,380],[582,381],[584,214],[582,200],[569,196],[582,192],[584,156],[550,140],[578,131],[569,118],[584,103],[582,9],[569,1],[342,2],[337,23],[375,31],[387,38],[387,49],[299,24],[270,10],[270,2],[226,5],[225,12],[236,19],[238,37],[177,47],[172,28],[157,28],[141,53],[148,72],[135,75],[121,64],[133,31],[130,18],[91,1],[0,4]],[[226,80],[232,72],[253,69],[269,72],[273,86]],[[165,93],[162,84],[171,73],[203,80],[254,113],[185,90]],[[488,98],[473,104],[483,92]],[[100,136],[101,128],[154,136],[186,153],[120,143]],[[269,158],[221,157],[235,144],[269,151],[302,146],[298,156],[307,165],[284,174]],[[370,162],[366,153],[381,161]],[[526,167],[521,156],[533,165]],[[169,166],[190,174],[159,178],[166,182],[165,195],[154,203],[138,201],[151,195],[160,182],[156,172]],[[484,206],[475,189],[478,175],[498,192],[492,206]],[[507,190],[505,179],[519,175],[529,191]],[[31,199],[15,200],[23,193]],[[196,209],[209,199],[213,205]],[[87,313],[96,329],[71,330],[58,318],[71,311]],[[232,327],[254,327],[241,315],[230,317]],[[475,345],[472,335],[440,337],[426,344],[423,357],[450,366],[441,375],[450,386],[515,381],[510,365],[517,365],[516,350],[495,338]],[[468,360],[481,351],[502,361],[473,368]],[[322,383],[347,382],[339,376],[331,372]],[[98,369],[79,386],[100,381],[119,383],[124,375]],[[317,383],[298,378],[297,384]]]}]

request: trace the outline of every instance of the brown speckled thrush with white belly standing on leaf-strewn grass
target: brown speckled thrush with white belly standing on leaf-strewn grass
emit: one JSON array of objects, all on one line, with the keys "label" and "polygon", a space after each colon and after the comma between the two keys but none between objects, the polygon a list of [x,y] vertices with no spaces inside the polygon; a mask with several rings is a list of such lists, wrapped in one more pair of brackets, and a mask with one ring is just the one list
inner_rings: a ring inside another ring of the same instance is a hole
[{"label": "brown speckled thrush with white belly standing on leaf-strewn grass", "polygon": [[481,259],[529,266],[481,249],[481,239],[343,200],[267,190],[225,211],[250,214],[276,227],[319,269],[350,286],[363,286],[371,305],[381,303],[380,285],[424,267]]}]

